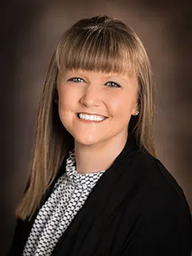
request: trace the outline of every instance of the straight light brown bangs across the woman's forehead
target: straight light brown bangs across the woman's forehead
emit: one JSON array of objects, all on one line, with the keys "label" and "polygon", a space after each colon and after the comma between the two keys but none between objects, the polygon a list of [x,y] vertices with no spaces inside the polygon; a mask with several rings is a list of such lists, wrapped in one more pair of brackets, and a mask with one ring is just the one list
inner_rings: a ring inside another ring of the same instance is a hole
[{"label": "straight light brown bangs across the woman's forehead", "polygon": [[136,71],[134,48],[127,34],[105,26],[76,28],[68,30],[58,42],[56,62],[61,73],[89,70],[131,75]]}]

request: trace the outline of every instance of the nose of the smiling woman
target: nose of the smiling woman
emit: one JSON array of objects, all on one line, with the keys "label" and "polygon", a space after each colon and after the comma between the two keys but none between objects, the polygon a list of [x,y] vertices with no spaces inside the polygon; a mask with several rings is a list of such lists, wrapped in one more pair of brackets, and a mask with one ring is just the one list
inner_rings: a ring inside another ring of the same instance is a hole
[{"label": "nose of the smiling woman", "polygon": [[80,102],[82,105],[90,106],[100,106],[102,102],[101,88],[95,88],[96,86],[89,85],[83,91],[82,98]]}]

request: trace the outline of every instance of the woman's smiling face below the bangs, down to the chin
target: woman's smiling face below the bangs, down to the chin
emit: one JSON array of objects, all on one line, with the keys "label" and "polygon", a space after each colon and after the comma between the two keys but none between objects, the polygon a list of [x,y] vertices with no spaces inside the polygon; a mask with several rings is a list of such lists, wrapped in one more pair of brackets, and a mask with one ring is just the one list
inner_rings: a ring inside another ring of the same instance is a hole
[{"label": "woman's smiling face below the bangs, down to the chin", "polygon": [[138,79],[69,70],[58,74],[58,112],[63,126],[84,146],[126,140],[137,110]]}]

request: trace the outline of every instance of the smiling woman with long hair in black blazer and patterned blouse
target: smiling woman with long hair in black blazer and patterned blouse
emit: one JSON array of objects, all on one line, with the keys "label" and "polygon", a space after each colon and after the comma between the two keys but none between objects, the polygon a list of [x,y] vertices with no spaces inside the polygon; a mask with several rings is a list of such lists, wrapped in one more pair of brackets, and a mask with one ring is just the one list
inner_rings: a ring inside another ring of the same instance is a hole
[{"label": "smiling woman with long hair in black blazer and patterned blouse", "polygon": [[189,256],[190,209],[155,158],[153,122],[138,36],[115,18],[76,22],[46,74],[9,255]]}]

